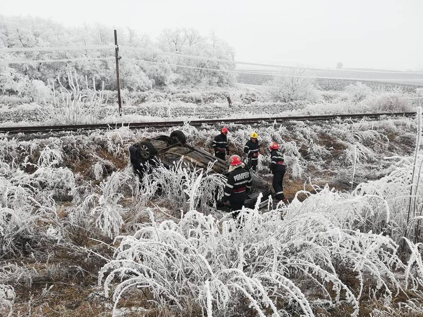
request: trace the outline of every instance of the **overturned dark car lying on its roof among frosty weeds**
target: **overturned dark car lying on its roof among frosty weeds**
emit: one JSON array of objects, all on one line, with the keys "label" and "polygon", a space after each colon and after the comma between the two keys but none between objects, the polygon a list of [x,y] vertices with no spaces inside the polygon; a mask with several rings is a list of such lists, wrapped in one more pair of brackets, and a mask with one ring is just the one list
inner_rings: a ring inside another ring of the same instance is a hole
[{"label": "overturned dark car lying on its roof among frosty weeds", "polygon": [[[144,139],[139,143],[131,145],[129,148],[131,163],[133,166],[140,162],[151,161],[156,157],[160,158],[161,163],[165,165],[173,165],[179,160],[183,160],[187,163],[188,167],[195,166],[198,168],[207,169],[210,163],[213,163],[212,172],[219,173],[224,176],[229,174],[229,163],[226,161],[216,158],[210,153],[189,145],[186,143],[186,137],[180,130],[173,131],[170,136],[157,136],[152,139]],[[154,164],[154,163],[153,163]],[[253,180],[253,188],[247,194],[247,198],[244,202],[245,207],[254,208],[257,198],[260,193],[263,194],[263,198],[259,207],[263,207],[268,203],[268,197],[271,195],[271,191],[266,181],[253,173],[251,175]],[[225,209],[223,205],[218,203],[220,209]]]}]

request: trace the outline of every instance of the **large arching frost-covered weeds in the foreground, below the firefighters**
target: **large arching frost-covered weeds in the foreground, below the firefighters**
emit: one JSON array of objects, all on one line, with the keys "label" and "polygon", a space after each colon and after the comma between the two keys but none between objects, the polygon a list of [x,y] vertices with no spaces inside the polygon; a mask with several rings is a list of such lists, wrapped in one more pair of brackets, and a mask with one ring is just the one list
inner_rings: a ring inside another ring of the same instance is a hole
[{"label": "large arching frost-covered weeds in the foreground, below the firefighters", "polygon": [[[241,227],[197,211],[161,223],[150,213],[150,224],[116,238],[115,259],[99,272],[105,296],[113,293],[113,315],[125,293],[141,289],[153,307],[179,316],[314,316],[341,303],[358,316],[364,295],[392,300],[422,285],[421,260],[411,257],[407,266],[392,239],[351,228],[351,211],[365,204],[329,190],[312,196],[306,205],[294,199],[283,220],[283,209],[243,209]],[[355,283],[347,284],[343,270]]]}]

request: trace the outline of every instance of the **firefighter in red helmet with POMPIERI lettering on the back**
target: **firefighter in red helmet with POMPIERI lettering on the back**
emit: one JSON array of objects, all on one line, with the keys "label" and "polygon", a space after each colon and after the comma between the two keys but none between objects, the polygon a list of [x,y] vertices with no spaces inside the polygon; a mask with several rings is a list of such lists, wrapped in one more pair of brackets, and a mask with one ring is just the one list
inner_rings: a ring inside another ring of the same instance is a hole
[{"label": "firefighter in red helmet with POMPIERI lettering on the back", "polygon": [[242,160],[239,155],[233,155],[229,159],[229,164],[235,169],[229,173],[224,189],[223,203],[229,200],[232,217],[237,218],[239,210],[242,209],[245,198],[251,189],[251,175],[242,167]]}]

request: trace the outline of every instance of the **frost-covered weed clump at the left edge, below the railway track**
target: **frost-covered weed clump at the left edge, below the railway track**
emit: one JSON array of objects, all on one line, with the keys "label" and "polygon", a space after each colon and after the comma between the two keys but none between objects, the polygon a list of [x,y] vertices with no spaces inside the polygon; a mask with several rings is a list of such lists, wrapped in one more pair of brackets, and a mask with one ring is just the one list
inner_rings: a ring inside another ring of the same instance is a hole
[{"label": "frost-covered weed clump at the left edge, below the railway track", "polygon": [[[18,153],[10,142],[9,155]],[[24,142],[19,144],[25,145]],[[1,153],[0,153],[1,154]],[[26,173],[18,164],[0,161],[0,248],[1,257],[22,252],[30,241],[37,242],[47,230],[46,224],[57,218],[55,201],[66,197],[75,186],[72,171],[56,167],[62,162],[62,153],[54,144],[45,146],[36,162],[25,158],[22,165],[30,165],[34,172]],[[2,155],[0,155],[0,158]]]}]

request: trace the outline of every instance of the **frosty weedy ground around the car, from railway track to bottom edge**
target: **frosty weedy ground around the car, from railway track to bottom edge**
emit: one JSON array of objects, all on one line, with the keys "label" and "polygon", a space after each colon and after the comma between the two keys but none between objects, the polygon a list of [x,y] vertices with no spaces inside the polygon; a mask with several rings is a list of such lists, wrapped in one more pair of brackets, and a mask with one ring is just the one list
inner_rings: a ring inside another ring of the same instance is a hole
[{"label": "frosty weedy ground around the car, from railway track to bottom edge", "polygon": [[0,311],[422,314],[419,120],[228,128],[233,153],[258,132],[258,172],[269,182],[271,140],[282,144],[288,170],[290,204],[246,209],[241,228],[204,203],[220,178],[178,165],[140,187],[129,165],[128,146],[142,137],[181,129],[209,150],[218,127],[1,135]]}]

